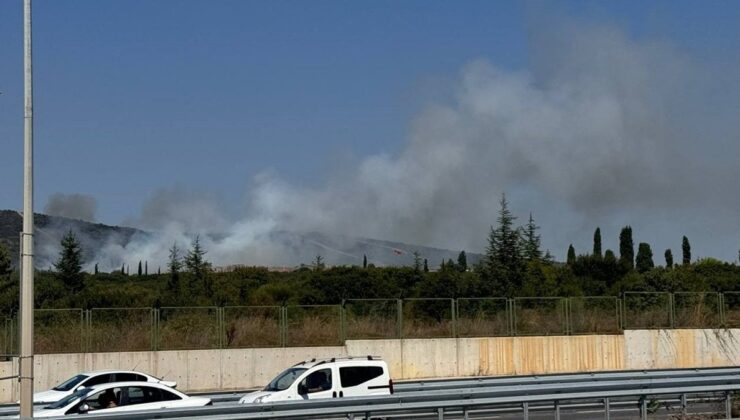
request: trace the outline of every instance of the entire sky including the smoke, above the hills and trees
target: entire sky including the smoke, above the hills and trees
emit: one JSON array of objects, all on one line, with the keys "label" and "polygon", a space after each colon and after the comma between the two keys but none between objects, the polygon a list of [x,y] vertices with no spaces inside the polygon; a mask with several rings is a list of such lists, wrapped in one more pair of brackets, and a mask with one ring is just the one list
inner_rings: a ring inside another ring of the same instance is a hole
[{"label": "entire sky including the smoke, above the hills and trees", "polygon": [[[0,0],[10,209],[21,6]],[[254,251],[275,230],[480,252],[506,193],[558,259],[631,225],[658,262],[683,235],[737,261],[740,3],[711,6],[34,0],[36,209],[280,263]]]}]

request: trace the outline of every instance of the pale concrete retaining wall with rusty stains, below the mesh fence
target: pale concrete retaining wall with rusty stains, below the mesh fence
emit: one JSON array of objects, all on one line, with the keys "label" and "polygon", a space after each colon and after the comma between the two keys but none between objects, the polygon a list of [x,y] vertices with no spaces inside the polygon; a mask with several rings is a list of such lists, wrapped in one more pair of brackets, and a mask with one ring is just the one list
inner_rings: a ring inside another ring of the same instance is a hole
[{"label": "pale concrete retaining wall with rusty stains, below the mesh fence", "polygon": [[[78,372],[140,370],[178,382],[184,391],[263,386],[286,367],[311,358],[383,357],[394,379],[524,375],[621,369],[740,365],[740,329],[632,330],[624,335],[353,340],[337,347],[45,354],[35,358],[36,389]],[[0,362],[0,377],[15,362]],[[17,382],[0,381],[0,403],[17,400]]]}]

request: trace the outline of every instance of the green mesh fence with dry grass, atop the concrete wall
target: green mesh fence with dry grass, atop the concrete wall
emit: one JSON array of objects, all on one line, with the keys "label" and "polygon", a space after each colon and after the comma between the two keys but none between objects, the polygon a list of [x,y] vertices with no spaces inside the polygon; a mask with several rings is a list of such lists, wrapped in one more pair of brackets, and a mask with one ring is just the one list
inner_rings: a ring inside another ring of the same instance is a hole
[{"label": "green mesh fence with dry grass, atop the concrete wall", "polygon": [[[349,299],[340,305],[37,309],[36,314],[38,353],[329,346],[348,339],[740,327],[740,292]],[[0,323],[0,354],[16,352],[16,323],[13,317]]]}]

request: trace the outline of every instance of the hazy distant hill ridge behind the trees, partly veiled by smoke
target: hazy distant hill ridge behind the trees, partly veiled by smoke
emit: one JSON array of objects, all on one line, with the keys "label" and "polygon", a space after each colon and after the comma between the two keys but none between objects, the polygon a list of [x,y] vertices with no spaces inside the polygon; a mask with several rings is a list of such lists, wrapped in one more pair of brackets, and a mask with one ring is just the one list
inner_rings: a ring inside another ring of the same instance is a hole
[{"label": "hazy distant hill ridge behind the trees, partly veiled by smoke", "polygon": [[[139,229],[121,226],[109,226],[101,223],[90,223],[82,220],[65,217],[35,215],[35,265],[39,268],[49,268],[57,259],[59,243],[62,236],[70,229],[75,232],[82,244],[83,254],[94,261],[104,245],[111,243],[126,247],[133,239],[141,242],[147,237],[156,237],[156,233],[145,232]],[[11,250],[13,264],[17,264],[19,255],[19,235],[23,228],[23,217],[13,210],[0,210],[0,242],[5,243]],[[217,235],[226,237],[228,234]],[[259,241],[260,239],[257,239]],[[452,259],[457,261],[459,250],[446,250],[420,245],[411,245],[400,242],[378,239],[353,238],[341,235],[326,235],[321,233],[294,233],[287,231],[271,232],[268,237],[262,238],[265,245],[279,249],[284,256],[287,267],[300,264],[310,264],[321,255],[327,265],[362,265],[363,255],[367,256],[369,264],[376,266],[410,266],[414,262],[414,252],[418,252],[422,259],[427,259],[430,268],[438,267],[442,261]],[[211,258],[216,257],[210,254]],[[479,261],[479,254],[467,253],[468,264]],[[214,261],[219,265],[219,261]],[[260,261],[229,261],[227,264],[270,265]],[[274,262],[272,263],[274,265]]]}]

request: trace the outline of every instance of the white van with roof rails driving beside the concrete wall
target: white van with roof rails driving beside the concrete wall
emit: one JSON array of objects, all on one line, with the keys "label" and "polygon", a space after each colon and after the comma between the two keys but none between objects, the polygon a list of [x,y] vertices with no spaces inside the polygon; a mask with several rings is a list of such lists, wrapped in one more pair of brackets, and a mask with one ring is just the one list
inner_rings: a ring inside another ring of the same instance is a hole
[{"label": "white van with roof rails driving beside the concrete wall", "polygon": [[388,365],[373,356],[310,360],[280,373],[261,391],[239,403],[365,397],[393,394]]}]

